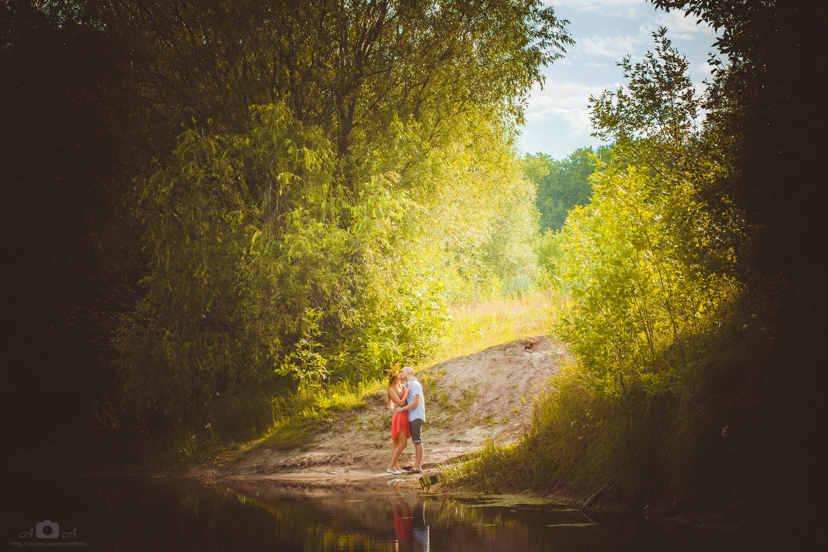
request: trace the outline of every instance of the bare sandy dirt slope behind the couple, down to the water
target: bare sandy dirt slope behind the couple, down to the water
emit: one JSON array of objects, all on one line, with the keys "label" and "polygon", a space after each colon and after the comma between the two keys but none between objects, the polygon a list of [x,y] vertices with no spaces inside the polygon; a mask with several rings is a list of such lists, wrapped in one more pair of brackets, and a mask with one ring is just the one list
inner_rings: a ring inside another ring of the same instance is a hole
[{"label": "bare sandy dirt slope behind the couple, down to the water", "polygon": [[[526,338],[436,364],[416,374],[426,399],[423,427],[426,475],[474,451],[484,439],[516,439],[534,396],[570,358],[560,343]],[[367,406],[340,413],[310,443],[292,450],[259,448],[197,468],[207,480],[267,478],[297,482],[357,482],[388,478],[391,413],[384,390]],[[400,465],[411,466],[409,440]],[[413,478],[414,476],[408,476]]]}]

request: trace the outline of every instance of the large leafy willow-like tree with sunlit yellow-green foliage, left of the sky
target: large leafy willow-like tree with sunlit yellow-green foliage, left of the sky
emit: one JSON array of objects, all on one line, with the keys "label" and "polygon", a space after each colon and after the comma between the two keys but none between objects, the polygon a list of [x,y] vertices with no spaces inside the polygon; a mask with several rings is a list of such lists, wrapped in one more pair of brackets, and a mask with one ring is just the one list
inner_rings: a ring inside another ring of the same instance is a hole
[{"label": "large leafy willow-like tree with sunlit yellow-green foliage, left of the sky", "polygon": [[[230,3],[233,5],[231,6]],[[143,94],[183,134],[138,180],[146,294],[123,401],[183,419],[290,376],[376,377],[452,300],[536,278],[511,140],[570,38],[539,2],[123,2]]]}]

